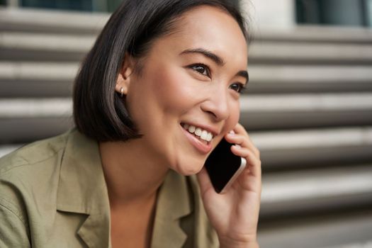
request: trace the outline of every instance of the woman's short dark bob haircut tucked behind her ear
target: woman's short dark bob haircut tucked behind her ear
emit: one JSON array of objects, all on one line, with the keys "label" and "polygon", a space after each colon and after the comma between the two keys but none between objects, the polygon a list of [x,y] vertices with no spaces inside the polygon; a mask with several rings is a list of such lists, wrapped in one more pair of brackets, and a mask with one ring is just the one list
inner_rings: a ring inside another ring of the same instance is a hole
[{"label": "woman's short dark bob haircut tucked behind her ear", "polygon": [[[171,33],[177,18],[197,6],[213,6],[230,14],[248,40],[244,18],[229,0],[124,0],[75,79],[74,122],[81,133],[99,142],[141,136],[125,108],[125,99],[115,92],[125,52],[135,58],[145,57],[156,38]],[[135,68],[135,73],[140,69]]]}]

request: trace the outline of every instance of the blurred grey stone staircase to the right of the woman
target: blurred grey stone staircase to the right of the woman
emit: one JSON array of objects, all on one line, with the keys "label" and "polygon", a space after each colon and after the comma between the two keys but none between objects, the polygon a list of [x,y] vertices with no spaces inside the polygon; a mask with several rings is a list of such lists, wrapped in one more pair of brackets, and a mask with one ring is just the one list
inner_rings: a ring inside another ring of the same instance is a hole
[{"label": "blurred grey stone staircase to the right of the woman", "polygon": [[372,247],[372,30],[261,31],[250,51],[261,247]]}]

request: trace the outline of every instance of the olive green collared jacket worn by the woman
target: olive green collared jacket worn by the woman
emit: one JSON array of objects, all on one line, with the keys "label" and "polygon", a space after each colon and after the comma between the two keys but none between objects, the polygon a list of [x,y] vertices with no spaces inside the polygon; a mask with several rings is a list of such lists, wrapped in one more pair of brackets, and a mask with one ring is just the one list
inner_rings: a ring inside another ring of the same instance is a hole
[{"label": "olive green collared jacket worn by the woman", "polygon": [[[71,130],[0,159],[0,247],[111,247],[96,141]],[[195,176],[167,174],[151,247],[218,247]]]}]

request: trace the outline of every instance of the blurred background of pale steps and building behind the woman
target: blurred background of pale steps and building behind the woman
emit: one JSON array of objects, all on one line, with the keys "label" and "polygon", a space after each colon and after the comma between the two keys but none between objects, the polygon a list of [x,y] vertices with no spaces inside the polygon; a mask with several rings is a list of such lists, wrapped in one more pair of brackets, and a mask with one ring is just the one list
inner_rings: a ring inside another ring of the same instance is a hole
[{"label": "blurred background of pale steps and building behind the woman", "polygon": [[[263,162],[261,248],[372,247],[372,1],[234,3],[254,36],[240,121]],[[118,4],[0,0],[0,156],[73,125],[79,62]]]}]

